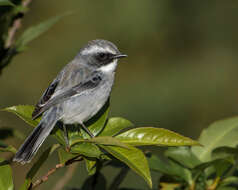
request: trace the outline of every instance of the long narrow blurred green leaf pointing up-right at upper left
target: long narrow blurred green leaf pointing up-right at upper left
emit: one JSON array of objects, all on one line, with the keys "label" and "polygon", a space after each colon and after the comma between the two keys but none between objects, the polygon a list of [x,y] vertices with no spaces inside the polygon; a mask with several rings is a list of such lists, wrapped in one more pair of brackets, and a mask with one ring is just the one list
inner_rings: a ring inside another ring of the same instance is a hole
[{"label": "long narrow blurred green leaf pointing up-right at upper left", "polygon": [[62,19],[64,16],[67,16],[71,13],[67,12],[65,14],[55,16],[50,18],[36,26],[32,26],[25,30],[25,32],[20,36],[20,38],[16,42],[16,48],[18,51],[24,50],[25,46],[47,30],[49,30],[56,22]]}]

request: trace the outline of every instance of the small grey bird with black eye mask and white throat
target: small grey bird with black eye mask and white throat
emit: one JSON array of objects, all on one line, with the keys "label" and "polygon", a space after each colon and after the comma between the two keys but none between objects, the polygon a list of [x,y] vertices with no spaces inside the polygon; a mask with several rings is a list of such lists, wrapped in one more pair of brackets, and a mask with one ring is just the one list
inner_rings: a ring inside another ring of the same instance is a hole
[{"label": "small grey bird with black eye mask and white throat", "polygon": [[58,121],[63,123],[65,133],[65,125],[79,124],[93,137],[84,122],[95,116],[108,101],[118,59],[124,57],[127,55],[107,40],[92,40],[83,46],[36,104],[32,119],[40,116],[42,119],[20,146],[13,161],[29,163]]}]

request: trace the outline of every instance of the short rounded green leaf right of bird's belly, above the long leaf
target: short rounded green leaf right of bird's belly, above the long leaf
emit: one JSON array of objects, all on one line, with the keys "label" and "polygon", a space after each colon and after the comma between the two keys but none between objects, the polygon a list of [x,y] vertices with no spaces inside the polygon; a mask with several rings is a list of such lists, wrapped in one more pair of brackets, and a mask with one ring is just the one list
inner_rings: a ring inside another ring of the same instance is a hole
[{"label": "short rounded green leaf right of bird's belly, above the long leaf", "polygon": [[105,128],[99,134],[99,136],[114,136],[118,134],[123,129],[132,127],[133,124],[124,118],[121,117],[112,117],[108,120]]}]

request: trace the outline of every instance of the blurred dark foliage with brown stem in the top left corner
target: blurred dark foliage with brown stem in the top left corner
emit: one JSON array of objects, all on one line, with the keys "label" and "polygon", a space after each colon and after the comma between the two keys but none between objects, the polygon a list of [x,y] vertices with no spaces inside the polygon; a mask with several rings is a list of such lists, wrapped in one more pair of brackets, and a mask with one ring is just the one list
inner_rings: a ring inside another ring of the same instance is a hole
[{"label": "blurred dark foliage with brown stem in the top left corner", "polygon": [[26,49],[29,42],[51,28],[58,20],[68,15],[65,13],[48,19],[26,29],[17,39],[16,32],[21,27],[23,15],[31,1],[0,0],[0,73],[18,53]]}]

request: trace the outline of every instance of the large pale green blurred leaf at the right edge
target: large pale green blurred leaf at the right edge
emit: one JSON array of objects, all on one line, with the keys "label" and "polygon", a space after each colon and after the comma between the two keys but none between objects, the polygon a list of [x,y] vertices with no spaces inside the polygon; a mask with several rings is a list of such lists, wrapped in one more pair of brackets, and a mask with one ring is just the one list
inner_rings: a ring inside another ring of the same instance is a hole
[{"label": "large pale green blurred leaf at the right edge", "polygon": [[204,147],[192,147],[192,151],[204,162],[211,160],[211,153],[217,147],[235,147],[238,144],[238,117],[211,124],[202,131],[199,143]]}]

